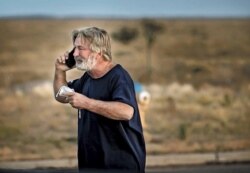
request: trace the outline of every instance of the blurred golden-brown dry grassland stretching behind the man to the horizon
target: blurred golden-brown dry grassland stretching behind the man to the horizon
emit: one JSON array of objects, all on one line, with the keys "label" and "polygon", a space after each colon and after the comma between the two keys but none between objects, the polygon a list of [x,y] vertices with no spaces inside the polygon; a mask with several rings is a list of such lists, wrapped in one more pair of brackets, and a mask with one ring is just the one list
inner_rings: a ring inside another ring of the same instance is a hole
[{"label": "blurred golden-brown dry grassland stretching behind the man to the horizon", "polygon": [[250,149],[250,21],[156,22],[165,29],[148,78],[138,20],[0,20],[0,160],[75,157],[76,110],[54,101],[51,82],[70,31],[89,25],[140,32],[113,41],[113,56],[151,92],[148,153]]}]

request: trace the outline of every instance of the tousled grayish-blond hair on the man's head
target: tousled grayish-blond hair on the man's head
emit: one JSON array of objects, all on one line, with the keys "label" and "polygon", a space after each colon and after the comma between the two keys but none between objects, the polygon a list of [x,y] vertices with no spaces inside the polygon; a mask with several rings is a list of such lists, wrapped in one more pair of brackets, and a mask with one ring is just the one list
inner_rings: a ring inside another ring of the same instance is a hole
[{"label": "tousled grayish-blond hair on the man's head", "polygon": [[77,37],[90,43],[90,50],[101,53],[105,60],[111,61],[111,44],[109,34],[97,27],[86,27],[72,32],[73,42]]}]

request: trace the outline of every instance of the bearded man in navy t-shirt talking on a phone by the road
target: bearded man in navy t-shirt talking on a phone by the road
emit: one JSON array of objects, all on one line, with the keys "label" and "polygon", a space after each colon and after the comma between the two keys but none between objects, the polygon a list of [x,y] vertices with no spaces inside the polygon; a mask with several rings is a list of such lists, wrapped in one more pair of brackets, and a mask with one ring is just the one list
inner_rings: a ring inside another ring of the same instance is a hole
[{"label": "bearded man in navy t-shirt talking on a phone by the road", "polygon": [[[134,85],[128,72],[112,62],[110,37],[96,27],[73,31],[76,68],[83,76],[66,81],[68,53],[55,62],[56,100],[78,109],[80,170],[144,172],[145,142]],[[62,86],[75,92],[58,96]]]}]

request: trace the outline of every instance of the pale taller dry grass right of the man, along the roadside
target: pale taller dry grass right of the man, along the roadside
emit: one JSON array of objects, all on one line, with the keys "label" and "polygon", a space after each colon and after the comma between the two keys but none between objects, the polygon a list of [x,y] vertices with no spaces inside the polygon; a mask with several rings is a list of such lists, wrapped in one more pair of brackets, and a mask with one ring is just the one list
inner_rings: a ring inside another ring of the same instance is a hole
[{"label": "pale taller dry grass right of the man, along the roadside", "polygon": [[158,90],[161,95],[152,95],[146,117],[147,131],[152,134],[150,143],[163,147],[157,152],[149,147],[148,151],[205,152],[218,147],[220,150],[249,148],[249,96],[236,95],[221,87],[187,88],[187,85],[178,84],[148,87],[151,93]]}]

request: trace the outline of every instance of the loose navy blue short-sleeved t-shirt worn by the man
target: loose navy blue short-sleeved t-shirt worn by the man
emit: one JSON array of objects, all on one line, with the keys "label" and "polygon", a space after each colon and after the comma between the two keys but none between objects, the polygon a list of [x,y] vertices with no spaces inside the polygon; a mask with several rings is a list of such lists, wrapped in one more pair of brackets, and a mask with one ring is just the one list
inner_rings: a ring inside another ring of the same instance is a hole
[{"label": "loose navy blue short-sleeved t-shirt worn by the man", "polygon": [[121,66],[93,79],[88,73],[68,83],[89,98],[118,101],[134,108],[129,121],[112,120],[88,110],[78,110],[79,169],[130,169],[144,172],[145,142],[136,102],[134,83]]}]

